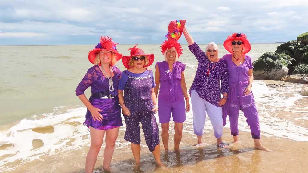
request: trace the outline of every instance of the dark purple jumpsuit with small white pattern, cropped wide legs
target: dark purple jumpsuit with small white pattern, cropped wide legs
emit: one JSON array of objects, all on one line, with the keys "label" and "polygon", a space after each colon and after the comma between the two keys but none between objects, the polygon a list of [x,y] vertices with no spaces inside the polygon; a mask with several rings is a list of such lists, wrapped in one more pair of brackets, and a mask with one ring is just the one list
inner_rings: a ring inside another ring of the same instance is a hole
[{"label": "dark purple jumpsuit with small white pattern, cropped wide legs", "polygon": [[[151,71],[150,71],[151,72]],[[140,125],[144,133],[145,141],[151,152],[159,144],[158,125],[153,109],[152,79],[150,72],[146,77],[133,77],[128,75],[124,88],[124,103],[131,115],[124,115],[126,131],[124,139],[128,142],[140,145]]]}]

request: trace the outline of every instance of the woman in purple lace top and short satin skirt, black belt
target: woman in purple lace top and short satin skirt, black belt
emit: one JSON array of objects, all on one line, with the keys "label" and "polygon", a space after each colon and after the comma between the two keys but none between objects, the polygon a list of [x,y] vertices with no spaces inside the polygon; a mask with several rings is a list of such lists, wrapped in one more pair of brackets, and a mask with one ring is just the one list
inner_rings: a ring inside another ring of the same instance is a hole
[{"label": "woman in purple lace top and short satin skirt, black belt", "polygon": [[[91,146],[86,158],[86,173],[93,172],[97,155],[106,133],[103,169],[109,169],[119,127],[123,126],[118,98],[121,71],[115,63],[122,58],[109,37],[101,37],[95,49],[89,51],[91,67],[76,88],[76,95],[87,107],[83,123],[90,129]],[[84,91],[91,87],[89,100]]]}]

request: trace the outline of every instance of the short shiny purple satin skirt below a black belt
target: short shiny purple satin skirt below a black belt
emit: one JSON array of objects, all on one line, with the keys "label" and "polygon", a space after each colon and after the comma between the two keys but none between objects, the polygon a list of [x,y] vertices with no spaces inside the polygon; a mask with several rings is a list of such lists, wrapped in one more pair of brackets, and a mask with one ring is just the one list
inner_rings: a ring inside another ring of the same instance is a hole
[{"label": "short shiny purple satin skirt below a black belt", "polygon": [[86,121],[83,123],[83,125],[86,125],[88,128],[93,127],[99,130],[107,130],[123,126],[121,118],[121,107],[119,105],[118,97],[113,99],[96,99],[90,97],[89,101],[94,107],[102,110],[102,112],[99,113],[103,116],[103,120],[94,121],[91,112],[87,109]]}]

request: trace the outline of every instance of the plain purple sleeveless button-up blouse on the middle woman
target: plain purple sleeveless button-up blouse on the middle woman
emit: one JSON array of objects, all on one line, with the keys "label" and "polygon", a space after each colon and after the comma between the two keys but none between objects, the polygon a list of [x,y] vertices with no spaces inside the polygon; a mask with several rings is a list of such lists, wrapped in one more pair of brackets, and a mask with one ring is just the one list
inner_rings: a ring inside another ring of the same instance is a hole
[{"label": "plain purple sleeveless button-up blouse on the middle woman", "polygon": [[163,102],[178,102],[184,100],[181,80],[182,72],[185,70],[185,64],[179,61],[173,63],[172,73],[166,61],[157,62],[155,66],[158,66],[160,73],[158,100]]}]

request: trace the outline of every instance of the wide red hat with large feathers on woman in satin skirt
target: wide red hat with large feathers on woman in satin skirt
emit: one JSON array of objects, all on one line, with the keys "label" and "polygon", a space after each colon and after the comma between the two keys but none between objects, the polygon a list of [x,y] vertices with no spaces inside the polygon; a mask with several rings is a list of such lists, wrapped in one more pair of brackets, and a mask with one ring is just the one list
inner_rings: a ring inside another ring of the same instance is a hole
[{"label": "wide red hat with large feathers on woman in satin skirt", "polygon": [[[115,53],[116,61],[119,61],[122,58],[123,54],[119,54],[118,50],[116,50],[116,47],[115,47],[119,43],[114,43],[111,40],[112,39],[109,38],[108,36],[100,37],[98,45],[96,45],[95,48],[90,50],[88,53],[88,59],[92,64],[94,64],[95,62],[96,55],[99,54],[99,52],[102,50],[107,50],[107,51],[111,51]],[[114,64],[110,63],[110,65],[113,66]]]}]

